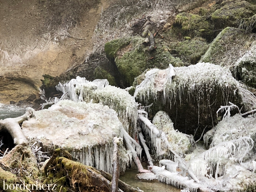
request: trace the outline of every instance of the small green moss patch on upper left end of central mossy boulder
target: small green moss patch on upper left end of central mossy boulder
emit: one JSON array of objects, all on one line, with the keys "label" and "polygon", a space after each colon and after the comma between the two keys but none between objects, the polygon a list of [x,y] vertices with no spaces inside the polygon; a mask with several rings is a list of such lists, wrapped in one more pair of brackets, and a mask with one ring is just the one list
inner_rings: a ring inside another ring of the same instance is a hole
[{"label": "small green moss patch on upper left end of central mossy boulder", "polygon": [[114,58],[116,52],[131,43],[131,38],[120,38],[109,41],[105,44],[105,53],[108,58]]}]

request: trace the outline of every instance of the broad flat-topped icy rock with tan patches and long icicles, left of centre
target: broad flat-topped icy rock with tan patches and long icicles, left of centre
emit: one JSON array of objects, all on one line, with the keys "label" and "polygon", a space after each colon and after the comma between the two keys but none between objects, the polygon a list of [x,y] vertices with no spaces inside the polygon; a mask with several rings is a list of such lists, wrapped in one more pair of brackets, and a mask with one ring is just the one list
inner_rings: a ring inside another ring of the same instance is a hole
[{"label": "broad flat-topped icy rock with tan patches and long icicles, left of centre", "polygon": [[[66,148],[81,163],[112,172],[113,137],[122,137],[122,123],[108,106],[62,100],[22,124],[30,141],[41,141],[45,150]],[[128,152],[120,149],[120,170],[130,162]]]}]

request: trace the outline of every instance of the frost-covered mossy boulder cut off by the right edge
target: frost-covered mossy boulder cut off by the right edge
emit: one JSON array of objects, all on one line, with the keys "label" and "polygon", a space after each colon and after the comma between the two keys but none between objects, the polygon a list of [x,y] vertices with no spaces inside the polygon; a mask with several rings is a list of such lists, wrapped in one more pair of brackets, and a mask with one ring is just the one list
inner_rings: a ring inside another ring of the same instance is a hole
[{"label": "frost-covered mossy boulder cut off by the right edge", "polygon": [[236,62],[235,72],[244,84],[256,88],[256,41],[250,50]]}]

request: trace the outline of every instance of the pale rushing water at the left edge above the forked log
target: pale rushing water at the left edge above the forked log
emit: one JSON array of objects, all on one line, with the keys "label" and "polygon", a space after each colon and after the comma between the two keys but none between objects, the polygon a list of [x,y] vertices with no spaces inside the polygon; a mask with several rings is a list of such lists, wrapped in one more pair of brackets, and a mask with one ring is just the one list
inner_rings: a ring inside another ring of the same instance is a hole
[{"label": "pale rushing water at the left edge above the forked log", "polygon": [[26,112],[26,107],[17,105],[4,105],[0,103],[0,119],[15,118]]}]

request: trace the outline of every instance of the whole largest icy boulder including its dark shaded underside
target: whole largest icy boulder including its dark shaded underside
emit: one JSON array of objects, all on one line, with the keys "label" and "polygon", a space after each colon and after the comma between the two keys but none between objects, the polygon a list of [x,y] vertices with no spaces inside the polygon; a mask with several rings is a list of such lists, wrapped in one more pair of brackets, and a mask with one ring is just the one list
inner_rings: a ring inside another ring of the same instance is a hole
[{"label": "whole largest icy boulder including its dark shaded underside", "polygon": [[172,68],[148,71],[134,97],[145,106],[153,103],[153,116],[157,111],[166,111],[175,129],[194,135],[198,128],[195,137],[199,138],[206,126],[209,130],[216,123],[216,111],[221,105],[241,104],[239,94],[234,96],[239,83],[229,70],[209,63],[174,67],[170,72]]}]

